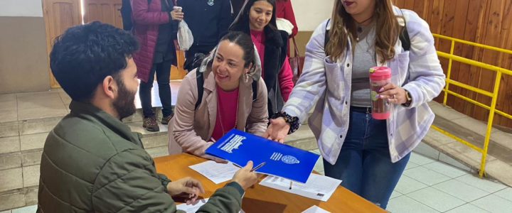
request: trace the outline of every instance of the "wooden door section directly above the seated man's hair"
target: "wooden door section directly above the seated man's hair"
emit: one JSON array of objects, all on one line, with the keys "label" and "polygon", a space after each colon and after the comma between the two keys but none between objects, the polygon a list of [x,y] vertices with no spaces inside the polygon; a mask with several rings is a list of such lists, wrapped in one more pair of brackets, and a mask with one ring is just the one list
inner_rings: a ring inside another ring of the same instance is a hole
[{"label": "wooden door section directly above the seated man's hair", "polygon": [[83,0],[84,23],[101,21],[122,28],[121,0]]}]

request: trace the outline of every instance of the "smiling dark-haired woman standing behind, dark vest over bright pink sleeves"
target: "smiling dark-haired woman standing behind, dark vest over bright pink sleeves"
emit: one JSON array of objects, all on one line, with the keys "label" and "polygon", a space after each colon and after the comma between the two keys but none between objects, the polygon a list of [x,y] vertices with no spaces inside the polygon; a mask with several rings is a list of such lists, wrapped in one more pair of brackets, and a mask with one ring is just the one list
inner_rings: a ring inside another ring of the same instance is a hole
[{"label": "smiling dark-haired woman standing behind, dark vest over bright pink sleeves", "polygon": [[230,31],[250,34],[262,63],[268,90],[269,115],[282,110],[294,87],[287,57],[288,33],[277,30],[275,0],[248,0],[230,26]]}]

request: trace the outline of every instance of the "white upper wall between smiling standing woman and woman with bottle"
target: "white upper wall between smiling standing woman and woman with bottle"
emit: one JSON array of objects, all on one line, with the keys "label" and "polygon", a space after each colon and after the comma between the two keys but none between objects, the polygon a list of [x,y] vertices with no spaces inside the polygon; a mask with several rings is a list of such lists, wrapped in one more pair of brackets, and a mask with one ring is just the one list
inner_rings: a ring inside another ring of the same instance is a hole
[{"label": "white upper wall between smiling standing woman and woman with bottle", "polygon": [[290,0],[299,31],[314,31],[319,24],[331,18],[334,1],[339,0]]}]

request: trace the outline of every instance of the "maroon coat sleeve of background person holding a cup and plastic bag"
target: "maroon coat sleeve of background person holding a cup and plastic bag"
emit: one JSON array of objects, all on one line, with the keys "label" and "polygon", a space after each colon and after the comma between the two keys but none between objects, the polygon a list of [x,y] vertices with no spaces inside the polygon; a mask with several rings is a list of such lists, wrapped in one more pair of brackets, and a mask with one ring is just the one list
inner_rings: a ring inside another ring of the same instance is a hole
[{"label": "maroon coat sleeve of background person holding a cup and plastic bag", "polygon": [[[151,1],[151,3],[158,3]],[[158,11],[150,12],[147,0],[133,0],[132,1],[132,16],[135,23],[144,25],[159,25],[168,23],[170,20],[169,13]]]}]

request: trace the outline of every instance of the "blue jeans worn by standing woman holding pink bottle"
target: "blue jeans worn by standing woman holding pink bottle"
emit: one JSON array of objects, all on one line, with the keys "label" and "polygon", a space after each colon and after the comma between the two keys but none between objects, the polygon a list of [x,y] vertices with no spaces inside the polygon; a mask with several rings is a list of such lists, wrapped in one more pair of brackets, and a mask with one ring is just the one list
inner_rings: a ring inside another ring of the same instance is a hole
[{"label": "blue jeans worn by standing woman holding pink bottle", "polygon": [[410,154],[391,163],[386,121],[373,119],[364,109],[351,108],[341,153],[334,165],[324,160],[325,174],[343,180],[343,187],[385,209]]}]

